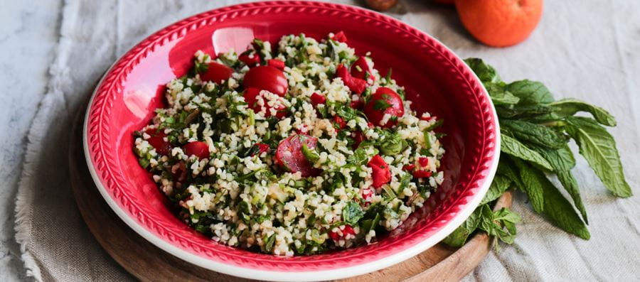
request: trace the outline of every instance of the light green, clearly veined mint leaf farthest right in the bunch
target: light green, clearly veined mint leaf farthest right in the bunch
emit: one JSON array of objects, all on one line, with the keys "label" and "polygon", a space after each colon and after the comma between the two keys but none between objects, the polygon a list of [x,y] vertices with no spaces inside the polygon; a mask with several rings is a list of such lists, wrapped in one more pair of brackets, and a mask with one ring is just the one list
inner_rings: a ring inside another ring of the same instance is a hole
[{"label": "light green, clearly veined mint leaf farthest right in the bunch", "polygon": [[616,141],[597,121],[585,117],[567,117],[567,132],[580,147],[580,154],[598,175],[604,186],[617,197],[631,196],[631,187],[624,180]]}]

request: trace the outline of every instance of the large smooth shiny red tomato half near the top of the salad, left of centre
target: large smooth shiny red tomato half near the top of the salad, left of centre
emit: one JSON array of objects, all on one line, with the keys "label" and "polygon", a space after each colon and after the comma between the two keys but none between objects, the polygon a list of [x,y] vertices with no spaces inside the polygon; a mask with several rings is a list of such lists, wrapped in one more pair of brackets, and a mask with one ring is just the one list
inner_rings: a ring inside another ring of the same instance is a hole
[{"label": "large smooth shiny red tomato half near the top of the salad, left of centre", "polygon": [[245,74],[242,85],[246,88],[267,90],[282,97],[289,91],[289,82],[282,70],[268,65],[253,67]]}]

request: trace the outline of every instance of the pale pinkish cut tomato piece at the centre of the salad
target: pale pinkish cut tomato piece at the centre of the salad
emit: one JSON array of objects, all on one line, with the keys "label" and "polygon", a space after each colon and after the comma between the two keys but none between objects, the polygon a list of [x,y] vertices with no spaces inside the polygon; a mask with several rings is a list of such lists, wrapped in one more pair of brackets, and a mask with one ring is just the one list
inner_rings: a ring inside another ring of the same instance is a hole
[{"label": "pale pinkish cut tomato piece at the centre of the salad", "polygon": [[309,149],[316,148],[318,139],[306,134],[294,134],[280,141],[275,153],[275,161],[292,173],[300,172],[302,177],[319,175],[321,170],[314,168],[302,153],[302,143]]}]

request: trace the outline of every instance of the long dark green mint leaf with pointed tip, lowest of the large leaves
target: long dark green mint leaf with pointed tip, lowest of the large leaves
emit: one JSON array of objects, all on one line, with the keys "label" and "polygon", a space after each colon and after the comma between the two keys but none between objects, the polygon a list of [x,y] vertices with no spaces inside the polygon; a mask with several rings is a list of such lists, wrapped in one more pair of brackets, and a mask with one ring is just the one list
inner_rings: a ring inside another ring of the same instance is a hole
[{"label": "long dark green mint leaf with pointed tip, lowest of the large leaves", "polygon": [[585,240],[590,239],[591,234],[587,226],[580,220],[571,203],[562,196],[558,188],[555,188],[547,178],[543,179],[542,187],[545,195],[544,214],[566,232]]}]

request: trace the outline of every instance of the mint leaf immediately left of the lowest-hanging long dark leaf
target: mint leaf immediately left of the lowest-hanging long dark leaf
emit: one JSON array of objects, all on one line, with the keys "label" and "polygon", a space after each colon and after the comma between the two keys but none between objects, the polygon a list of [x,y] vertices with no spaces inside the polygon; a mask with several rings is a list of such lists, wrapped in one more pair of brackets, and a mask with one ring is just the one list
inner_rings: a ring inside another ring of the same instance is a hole
[{"label": "mint leaf immediately left of the lowest-hanging long dark leaf", "polygon": [[513,163],[516,163],[516,167],[520,173],[522,181],[521,189],[529,197],[533,210],[538,213],[543,212],[545,209],[543,182],[544,180],[548,181],[547,177],[542,171],[532,166],[528,166],[527,163],[518,160],[517,158],[513,159]]}]

